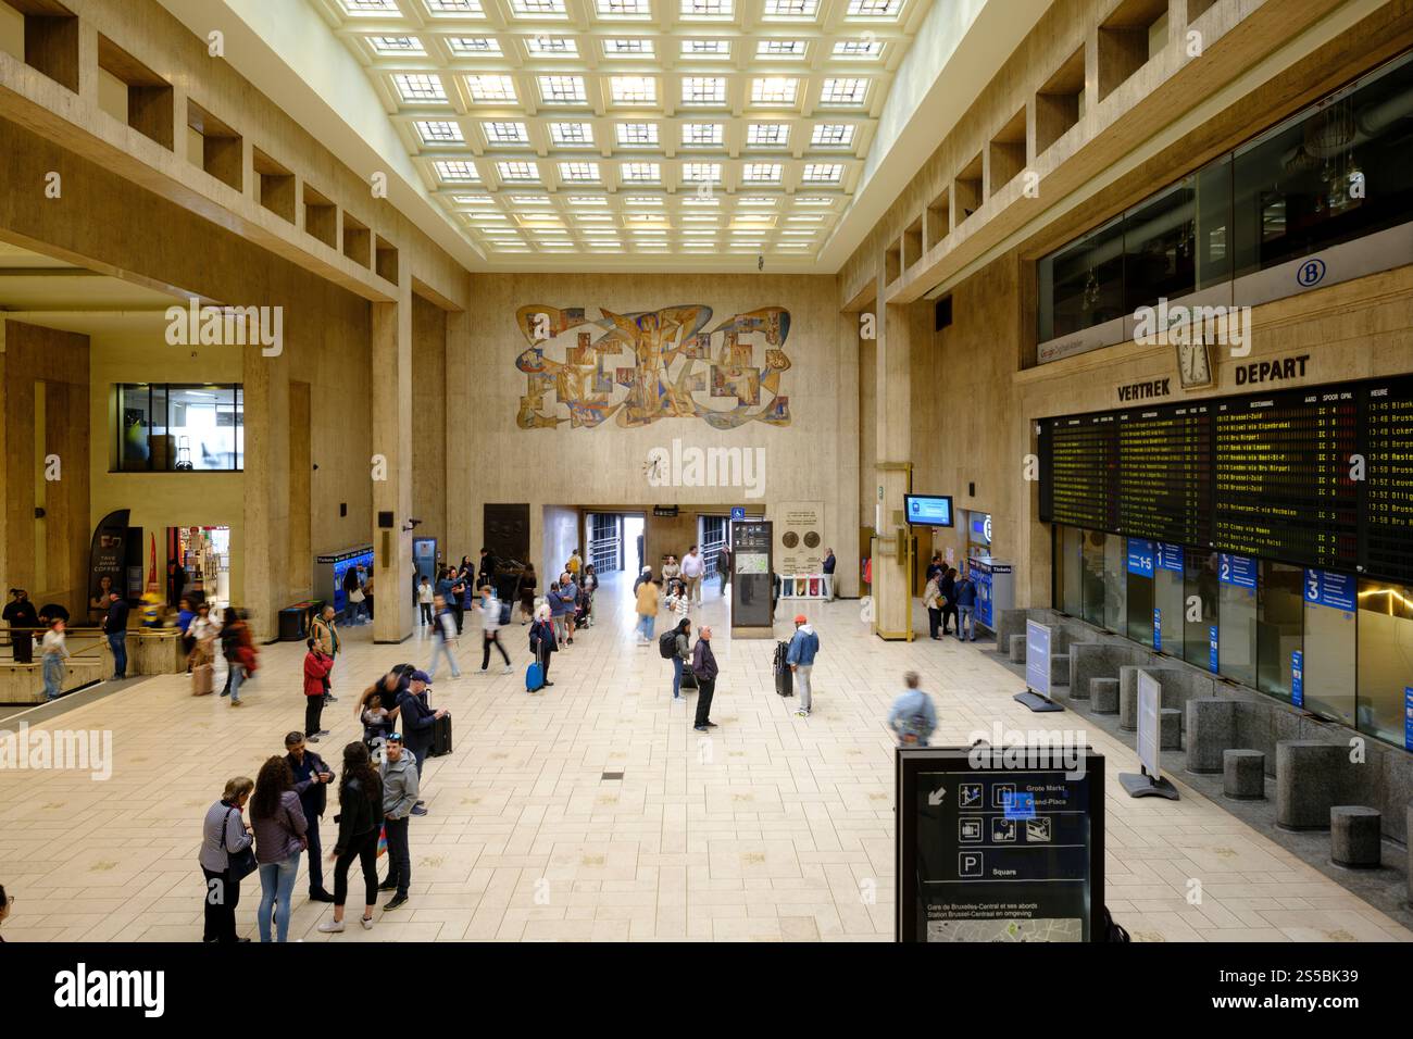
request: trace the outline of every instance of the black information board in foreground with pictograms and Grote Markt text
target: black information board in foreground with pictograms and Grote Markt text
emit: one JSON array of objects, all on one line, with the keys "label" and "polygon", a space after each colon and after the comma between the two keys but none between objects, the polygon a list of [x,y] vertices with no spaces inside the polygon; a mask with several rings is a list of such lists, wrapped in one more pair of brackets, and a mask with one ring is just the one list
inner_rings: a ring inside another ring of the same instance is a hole
[{"label": "black information board in foreground with pictograms and Grote Markt text", "polygon": [[1104,940],[1104,756],[899,748],[899,941]]}]

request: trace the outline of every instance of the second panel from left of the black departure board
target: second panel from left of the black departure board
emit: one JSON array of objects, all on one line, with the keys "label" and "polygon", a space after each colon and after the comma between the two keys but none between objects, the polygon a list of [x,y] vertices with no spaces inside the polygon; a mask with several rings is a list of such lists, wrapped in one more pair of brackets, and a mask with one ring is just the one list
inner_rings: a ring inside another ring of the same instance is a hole
[{"label": "second panel from left of the black departure board", "polygon": [[1119,530],[1176,544],[1211,539],[1212,427],[1208,406],[1119,413]]}]

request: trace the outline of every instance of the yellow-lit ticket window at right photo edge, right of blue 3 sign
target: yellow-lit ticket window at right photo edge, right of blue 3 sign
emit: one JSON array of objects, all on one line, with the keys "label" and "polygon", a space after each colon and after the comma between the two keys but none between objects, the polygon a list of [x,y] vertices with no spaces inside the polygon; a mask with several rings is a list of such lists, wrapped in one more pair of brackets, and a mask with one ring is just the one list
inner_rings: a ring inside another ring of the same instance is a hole
[{"label": "yellow-lit ticket window at right photo edge, right of blue 3 sign", "polygon": [[1358,623],[1358,728],[1403,746],[1413,697],[1413,587],[1361,581]]}]

